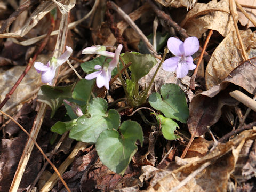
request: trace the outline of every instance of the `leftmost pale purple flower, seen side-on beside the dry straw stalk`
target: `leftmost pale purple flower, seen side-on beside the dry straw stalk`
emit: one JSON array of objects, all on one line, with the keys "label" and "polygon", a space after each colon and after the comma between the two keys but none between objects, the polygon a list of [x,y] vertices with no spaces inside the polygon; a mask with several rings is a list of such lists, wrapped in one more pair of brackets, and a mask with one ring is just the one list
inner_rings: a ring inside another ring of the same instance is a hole
[{"label": "leftmost pale purple flower, seen side-on beside the dry straw stalk", "polygon": [[51,85],[51,81],[55,76],[55,72],[57,67],[65,63],[70,55],[72,54],[72,48],[69,46],[66,46],[66,51],[57,59],[55,57],[52,57],[46,65],[44,65],[41,62],[35,62],[34,67],[36,68],[36,71],[38,73],[42,72],[42,82],[43,83],[49,83]]}]

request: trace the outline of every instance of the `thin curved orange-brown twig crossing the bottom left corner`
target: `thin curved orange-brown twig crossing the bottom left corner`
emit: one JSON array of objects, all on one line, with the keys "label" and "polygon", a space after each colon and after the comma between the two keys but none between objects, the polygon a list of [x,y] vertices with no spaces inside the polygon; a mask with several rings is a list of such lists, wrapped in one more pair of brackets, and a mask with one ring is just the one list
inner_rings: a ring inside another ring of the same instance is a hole
[{"label": "thin curved orange-brown twig crossing the bottom left corner", "polygon": [[68,186],[67,186],[67,183],[63,180],[63,178],[61,177],[61,175],[60,175],[59,171],[57,170],[57,168],[55,167],[55,165],[53,165],[53,163],[50,161],[50,159],[45,155],[44,151],[43,151],[43,150],[41,149],[41,147],[37,144],[37,142],[35,141],[35,139],[34,139],[33,137],[31,137],[31,135],[30,135],[17,121],[15,121],[15,119],[13,119],[10,115],[4,113],[4,112],[1,111],[1,110],[0,110],[0,113],[4,114],[4,115],[6,115],[7,117],[9,117],[10,119],[12,119],[12,121],[13,121],[15,124],[17,124],[17,125],[20,127],[20,129],[22,129],[22,131],[24,131],[24,132],[28,135],[28,137],[35,143],[36,147],[38,148],[38,150],[40,151],[40,153],[44,156],[44,158],[46,159],[46,161],[47,161],[48,163],[50,163],[50,165],[52,166],[52,168],[54,169],[54,171],[56,172],[56,174],[58,174],[58,177],[60,178],[60,180],[61,180],[61,182],[63,183],[63,185],[65,186],[65,188],[66,188],[69,192],[71,192],[70,189],[69,189]]}]

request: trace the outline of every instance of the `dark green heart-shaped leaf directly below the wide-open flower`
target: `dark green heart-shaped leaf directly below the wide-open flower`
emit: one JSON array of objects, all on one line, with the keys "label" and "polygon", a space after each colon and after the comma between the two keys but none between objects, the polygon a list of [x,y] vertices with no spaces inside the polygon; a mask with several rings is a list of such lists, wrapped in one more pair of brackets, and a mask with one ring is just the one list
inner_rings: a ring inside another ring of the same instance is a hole
[{"label": "dark green heart-shaped leaf directly below the wide-open flower", "polygon": [[150,105],[164,113],[165,117],[186,123],[189,111],[183,90],[175,84],[164,84],[161,87],[161,95],[151,94],[148,99]]}]

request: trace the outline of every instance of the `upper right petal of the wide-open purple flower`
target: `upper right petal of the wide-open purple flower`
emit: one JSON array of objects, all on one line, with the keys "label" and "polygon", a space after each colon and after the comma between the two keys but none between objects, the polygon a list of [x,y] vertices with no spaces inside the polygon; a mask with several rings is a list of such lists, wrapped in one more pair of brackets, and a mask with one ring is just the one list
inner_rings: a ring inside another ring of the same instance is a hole
[{"label": "upper right petal of the wide-open purple flower", "polygon": [[199,41],[196,37],[188,37],[184,41],[184,56],[193,55],[199,49]]}]

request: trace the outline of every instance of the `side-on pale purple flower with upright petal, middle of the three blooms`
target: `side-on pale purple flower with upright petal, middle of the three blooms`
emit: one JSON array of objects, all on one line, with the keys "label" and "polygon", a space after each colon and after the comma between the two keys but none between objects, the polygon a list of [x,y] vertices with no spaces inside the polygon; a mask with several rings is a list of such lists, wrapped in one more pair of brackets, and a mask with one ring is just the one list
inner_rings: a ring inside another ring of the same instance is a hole
[{"label": "side-on pale purple flower with upright petal, middle of the three blooms", "polygon": [[120,57],[122,48],[123,48],[122,44],[118,45],[114,54],[114,58],[108,63],[108,65],[105,64],[102,67],[100,65],[95,65],[94,69],[97,69],[98,71],[86,75],[85,79],[91,80],[96,78],[96,85],[99,88],[105,86],[106,89],[109,89],[111,71],[113,71],[113,69],[117,66],[119,62],[119,57]]}]

